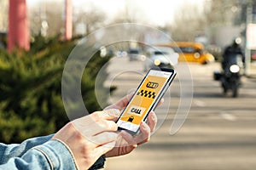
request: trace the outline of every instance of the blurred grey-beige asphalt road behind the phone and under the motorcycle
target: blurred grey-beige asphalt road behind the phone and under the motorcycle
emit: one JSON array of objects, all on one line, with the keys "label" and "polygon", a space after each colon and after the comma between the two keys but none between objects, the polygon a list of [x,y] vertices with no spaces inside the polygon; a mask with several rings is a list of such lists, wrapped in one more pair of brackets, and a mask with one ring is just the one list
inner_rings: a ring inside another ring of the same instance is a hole
[{"label": "blurred grey-beige asphalt road behind the phone and under the motorcycle", "polygon": [[[108,158],[105,169],[254,170],[256,79],[242,78],[237,99],[223,96],[219,82],[212,79],[212,72],[218,68],[218,63],[189,64],[194,89],[192,105],[183,126],[171,135],[170,128],[181,101],[177,73],[170,88],[171,99],[165,98],[156,110],[160,127],[150,141],[129,155]],[[117,87],[109,99],[114,102],[137,88],[144,74],[143,63],[114,58],[108,72],[106,84]]]}]

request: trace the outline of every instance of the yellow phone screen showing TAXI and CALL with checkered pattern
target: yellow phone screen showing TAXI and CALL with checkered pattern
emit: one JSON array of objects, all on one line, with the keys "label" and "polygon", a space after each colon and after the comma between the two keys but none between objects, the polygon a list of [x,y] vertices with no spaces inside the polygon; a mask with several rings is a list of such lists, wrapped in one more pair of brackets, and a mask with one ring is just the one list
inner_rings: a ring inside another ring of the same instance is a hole
[{"label": "yellow phone screen showing TAXI and CALL with checkered pattern", "polygon": [[163,71],[151,70],[148,72],[148,77],[144,79],[120,117],[118,121],[119,127],[133,132],[137,131],[140,122],[147,115],[148,110],[154,104],[155,99],[160,94],[160,90],[164,88],[172,73],[166,72],[166,75],[164,75]]}]

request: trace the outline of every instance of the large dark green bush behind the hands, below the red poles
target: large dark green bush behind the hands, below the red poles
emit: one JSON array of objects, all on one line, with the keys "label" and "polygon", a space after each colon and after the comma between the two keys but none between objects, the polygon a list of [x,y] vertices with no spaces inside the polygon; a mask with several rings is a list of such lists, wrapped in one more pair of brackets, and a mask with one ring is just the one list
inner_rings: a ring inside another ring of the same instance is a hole
[{"label": "large dark green bush behind the hands, below the red poles", "polygon": [[[33,136],[55,133],[69,121],[61,98],[61,77],[76,42],[76,39],[60,42],[58,37],[37,37],[29,52],[0,52],[1,142],[19,143]],[[97,52],[86,65],[81,90],[90,112],[101,109],[94,93],[95,77],[108,59]],[[102,82],[106,77],[101,77]]]}]

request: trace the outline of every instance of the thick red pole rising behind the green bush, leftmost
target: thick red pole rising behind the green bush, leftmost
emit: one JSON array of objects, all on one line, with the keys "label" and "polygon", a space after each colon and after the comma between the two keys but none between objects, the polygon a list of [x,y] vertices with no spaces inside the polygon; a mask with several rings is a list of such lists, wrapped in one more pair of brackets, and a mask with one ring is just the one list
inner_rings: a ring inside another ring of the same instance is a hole
[{"label": "thick red pole rising behind the green bush, leftmost", "polygon": [[30,49],[26,0],[9,0],[8,50],[14,48]]}]

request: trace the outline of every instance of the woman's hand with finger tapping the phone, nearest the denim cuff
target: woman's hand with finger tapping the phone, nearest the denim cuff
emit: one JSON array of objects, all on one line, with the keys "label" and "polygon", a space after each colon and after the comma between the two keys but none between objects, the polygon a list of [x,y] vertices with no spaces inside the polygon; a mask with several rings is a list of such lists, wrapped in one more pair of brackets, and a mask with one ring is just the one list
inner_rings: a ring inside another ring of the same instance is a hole
[{"label": "woman's hand with finger tapping the phone, nearest the denim cuff", "polygon": [[96,111],[67,123],[52,139],[59,139],[72,150],[79,169],[88,169],[95,161],[112,150],[118,139],[119,110]]}]

